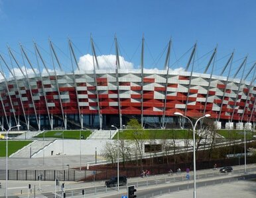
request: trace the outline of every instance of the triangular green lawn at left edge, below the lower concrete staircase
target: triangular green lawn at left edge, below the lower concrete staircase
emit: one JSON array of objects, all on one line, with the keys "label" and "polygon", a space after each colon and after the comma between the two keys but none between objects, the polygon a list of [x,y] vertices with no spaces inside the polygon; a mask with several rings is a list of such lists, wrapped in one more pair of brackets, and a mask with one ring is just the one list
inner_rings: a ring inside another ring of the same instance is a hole
[{"label": "triangular green lawn at left edge, below the lower concrete staircase", "polygon": [[[32,141],[12,141],[8,140],[8,156],[17,150],[29,145]],[[0,141],[0,157],[6,156],[6,140]]]}]

